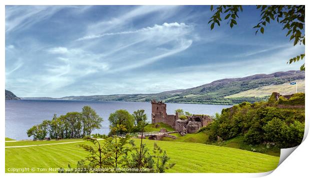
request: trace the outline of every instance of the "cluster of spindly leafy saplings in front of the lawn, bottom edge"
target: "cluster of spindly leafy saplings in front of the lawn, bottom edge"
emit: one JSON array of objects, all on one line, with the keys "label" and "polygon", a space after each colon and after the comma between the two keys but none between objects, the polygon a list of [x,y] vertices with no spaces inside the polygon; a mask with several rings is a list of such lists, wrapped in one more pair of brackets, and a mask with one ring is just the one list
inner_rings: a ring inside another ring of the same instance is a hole
[{"label": "cluster of spindly leafy saplings in front of the lawn, bottom edge", "polygon": [[[115,130],[118,129],[120,128],[115,128]],[[87,157],[77,162],[77,169],[67,169],[68,171],[59,169],[58,173],[111,173],[112,171],[115,173],[136,173],[137,168],[149,169],[148,171],[145,170],[144,173],[154,173],[155,167],[157,173],[164,173],[165,170],[175,165],[168,165],[167,162],[170,158],[156,144],[154,144],[155,155],[149,153],[145,144],[142,145],[142,154],[140,154],[134,141],[129,141],[130,138],[129,134],[125,137],[108,137],[99,134],[94,134],[92,137],[86,136],[83,139],[92,144],[83,144],[79,147],[88,152]],[[129,153],[131,156],[128,156]],[[156,159],[157,163],[154,162],[153,158]],[[68,168],[71,168],[70,165]],[[132,168],[133,171],[118,168]]]}]

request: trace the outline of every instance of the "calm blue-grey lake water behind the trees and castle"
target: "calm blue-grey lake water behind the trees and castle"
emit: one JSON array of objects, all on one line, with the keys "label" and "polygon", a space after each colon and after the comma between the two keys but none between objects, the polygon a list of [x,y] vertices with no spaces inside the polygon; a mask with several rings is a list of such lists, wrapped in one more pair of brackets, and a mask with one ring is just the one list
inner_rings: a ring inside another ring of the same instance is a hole
[{"label": "calm blue-grey lake water behind the trees and castle", "polygon": [[[181,108],[192,114],[214,115],[220,113],[229,105],[206,104],[179,104],[166,103],[167,114],[174,114],[174,110]],[[83,106],[90,106],[103,118],[102,128],[93,133],[107,134],[108,116],[118,109],[125,109],[133,113],[144,109],[148,122],[151,122],[151,104],[145,102],[113,102],[113,101],[65,101],[65,100],[6,100],[5,101],[5,137],[23,140],[27,137],[27,130],[33,125],[40,124],[43,120],[51,120],[53,114],[64,115],[67,112],[81,112]]]}]

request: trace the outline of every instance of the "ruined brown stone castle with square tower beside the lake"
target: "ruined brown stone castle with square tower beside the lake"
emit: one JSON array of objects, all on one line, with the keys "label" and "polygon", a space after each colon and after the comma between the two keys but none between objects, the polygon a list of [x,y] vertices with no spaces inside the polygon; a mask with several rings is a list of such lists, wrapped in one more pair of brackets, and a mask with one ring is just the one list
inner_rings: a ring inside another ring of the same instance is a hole
[{"label": "ruined brown stone castle with square tower beside the lake", "polygon": [[207,126],[211,121],[208,115],[192,115],[187,116],[187,119],[181,120],[178,113],[175,115],[167,115],[166,104],[162,101],[151,101],[152,105],[152,124],[164,123],[171,126],[173,129],[183,133],[196,133],[201,127]]}]

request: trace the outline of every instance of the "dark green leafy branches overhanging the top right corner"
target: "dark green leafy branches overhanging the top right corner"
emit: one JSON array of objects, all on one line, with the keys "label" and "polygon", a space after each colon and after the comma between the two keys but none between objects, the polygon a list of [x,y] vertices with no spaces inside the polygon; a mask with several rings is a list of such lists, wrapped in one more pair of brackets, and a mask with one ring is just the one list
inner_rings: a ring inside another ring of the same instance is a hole
[{"label": "dark green leafy branches overhanging the top right corner", "polygon": [[[257,9],[260,9],[260,20],[253,26],[256,29],[255,34],[259,31],[264,33],[264,27],[270,23],[270,20],[275,20],[282,25],[282,30],[286,29],[289,36],[289,40],[294,39],[293,45],[305,44],[304,35],[304,5],[256,5]],[[211,30],[214,25],[220,26],[220,21],[222,21],[221,16],[224,16],[224,20],[227,20],[227,24],[232,28],[237,24],[236,18],[239,18],[238,13],[243,11],[242,5],[217,5],[214,8],[213,5],[210,6],[210,10],[213,15],[210,17],[208,23],[210,23]],[[304,53],[290,58],[287,63],[291,64],[302,60],[304,58]],[[300,66],[300,70],[304,71],[304,64]]]}]

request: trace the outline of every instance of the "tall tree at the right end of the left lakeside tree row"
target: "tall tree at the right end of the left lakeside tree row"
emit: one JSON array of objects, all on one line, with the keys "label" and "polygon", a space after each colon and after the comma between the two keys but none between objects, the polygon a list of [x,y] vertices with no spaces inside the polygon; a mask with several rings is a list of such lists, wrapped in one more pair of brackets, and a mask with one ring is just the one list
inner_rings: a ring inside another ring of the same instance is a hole
[{"label": "tall tree at the right end of the left lakeside tree row", "polygon": [[84,106],[81,115],[84,128],[83,135],[90,135],[93,129],[100,129],[103,119],[90,106]]}]

